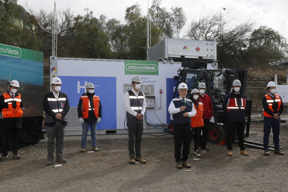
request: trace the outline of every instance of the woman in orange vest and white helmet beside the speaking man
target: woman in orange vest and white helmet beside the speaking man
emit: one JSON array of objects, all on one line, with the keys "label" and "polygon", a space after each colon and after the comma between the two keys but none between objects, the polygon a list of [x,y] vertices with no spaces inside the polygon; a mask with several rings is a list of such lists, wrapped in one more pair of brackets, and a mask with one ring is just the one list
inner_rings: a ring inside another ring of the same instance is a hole
[{"label": "woman in orange vest and white helmet beside the speaking man", "polygon": [[194,104],[194,108],[197,111],[196,115],[191,117],[191,127],[192,127],[191,138],[194,132],[194,154],[196,155],[196,157],[201,157],[198,147],[199,147],[199,141],[201,137],[201,130],[202,130],[201,128],[204,126],[204,121],[202,119],[204,106],[203,106],[203,103],[200,102],[199,91],[197,89],[193,89],[191,91],[189,99],[192,100]]}]

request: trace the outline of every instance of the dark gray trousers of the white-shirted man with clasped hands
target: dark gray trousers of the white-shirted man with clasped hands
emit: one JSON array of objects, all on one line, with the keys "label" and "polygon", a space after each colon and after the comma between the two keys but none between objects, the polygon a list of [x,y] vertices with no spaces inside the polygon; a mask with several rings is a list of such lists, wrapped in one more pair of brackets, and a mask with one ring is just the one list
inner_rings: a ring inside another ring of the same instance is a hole
[{"label": "dark gray trousers of the white-shirted man with clasped hands", "polygon": [[141,157],[141,140],[143,134],[143,120],[136,118],[127,118],[127,128],[129,131],[128,149],[129,155],[135,154],[134,152],[134,138],[135,138],[135,151],[136,157]]}]

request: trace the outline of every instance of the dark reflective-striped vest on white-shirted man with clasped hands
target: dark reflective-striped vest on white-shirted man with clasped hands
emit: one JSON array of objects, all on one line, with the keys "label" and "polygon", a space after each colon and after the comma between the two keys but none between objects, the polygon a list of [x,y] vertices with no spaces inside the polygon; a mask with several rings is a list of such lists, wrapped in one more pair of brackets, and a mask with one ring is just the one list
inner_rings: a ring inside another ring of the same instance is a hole
[{"label": "dark reflective-striped vest on white-shirted man with clasped hands", "polygon": [[[132,90],[128,91],[128,93],[130,98],[130,107],[138,114],[140,114],[142,111],[142,105],[144,100],[143,93],[139,91],[138,99],[136,98],[136,95],[132,92]],[[126,118],[136,118],[136,117],[126,111]]]}]

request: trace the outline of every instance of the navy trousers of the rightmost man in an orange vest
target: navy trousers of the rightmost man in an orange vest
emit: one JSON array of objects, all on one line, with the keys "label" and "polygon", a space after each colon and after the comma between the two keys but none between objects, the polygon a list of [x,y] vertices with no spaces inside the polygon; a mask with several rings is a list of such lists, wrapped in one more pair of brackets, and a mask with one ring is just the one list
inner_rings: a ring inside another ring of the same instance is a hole
[{"label": "navy trousers of the rightmost man in an orange vest", "polygon": [[264,144],[264,150],[268,151],[268,144],[269,144],[269,135],[271,132],[272,127],[272,133],[273,133],[273,143],[274,143],[274,149],[279,150],[279,135],[280,135],[280,118],[274,119],[273,117],[264,117],[264,137],[263,137],[263,144]]}]

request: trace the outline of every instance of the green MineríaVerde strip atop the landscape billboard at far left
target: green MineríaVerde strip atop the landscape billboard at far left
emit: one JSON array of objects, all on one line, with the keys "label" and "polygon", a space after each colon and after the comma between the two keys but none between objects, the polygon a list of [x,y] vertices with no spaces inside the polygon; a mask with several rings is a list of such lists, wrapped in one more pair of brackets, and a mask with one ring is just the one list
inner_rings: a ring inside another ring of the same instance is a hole
[{"label": "green Miner\u00edaVerde strip atop the landscape billboard at far left", "polygon": [[0,55],[43,62],[43,52],[0,44]]}]

